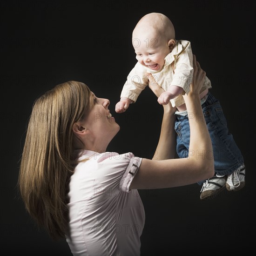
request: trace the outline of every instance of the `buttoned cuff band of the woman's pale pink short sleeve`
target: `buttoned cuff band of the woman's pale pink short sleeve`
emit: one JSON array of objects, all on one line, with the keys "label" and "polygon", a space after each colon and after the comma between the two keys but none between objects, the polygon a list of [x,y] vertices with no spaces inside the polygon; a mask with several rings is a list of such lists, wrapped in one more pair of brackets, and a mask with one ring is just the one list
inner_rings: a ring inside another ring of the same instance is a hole
[{"label": "buttoned cuff band of the woman's pale pink short sleeve", "polygon": [[130,185],[141,165],[141,157],[133,156],[121,178],[119,188],[124,192],[130,191]]}]

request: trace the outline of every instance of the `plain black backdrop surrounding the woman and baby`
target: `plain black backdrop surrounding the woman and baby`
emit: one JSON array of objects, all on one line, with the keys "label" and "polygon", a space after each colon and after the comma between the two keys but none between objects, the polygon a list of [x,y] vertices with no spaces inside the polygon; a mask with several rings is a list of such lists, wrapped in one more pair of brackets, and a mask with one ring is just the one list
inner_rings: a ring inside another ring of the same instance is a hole
[{"label": "plain black backdrop surrounding the woman and baby", "polygon": [[[166,14],[176,39],[192,50],[221,101],[246,164],[246,186],[200,201],[197,184],[140,191],[146,211],[141,255],[255,253],[254,1],[1,1],[1,253],[71,255],[66,241],[38,230],[17,196],[19,159],[34,100],[76,80],[110,99],[121,130],[109,151],[153,157],[162,106],[146,88],[124,114],[115,113],[135,65],[131,34],[146,13]],[[156,156],[157,157],[157,156]]]}]

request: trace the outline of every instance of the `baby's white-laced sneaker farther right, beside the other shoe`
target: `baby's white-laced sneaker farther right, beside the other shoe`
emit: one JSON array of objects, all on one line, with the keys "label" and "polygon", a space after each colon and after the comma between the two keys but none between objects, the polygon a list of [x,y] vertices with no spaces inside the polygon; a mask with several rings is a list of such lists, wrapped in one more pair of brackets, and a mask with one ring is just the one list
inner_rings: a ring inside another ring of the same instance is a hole
[{"label": "baby's white-laced sneaker farther right, beside the other shoe", "polygon": [[245,185],[245,166],[241,166],[233,173],[229,174],[226,188],[229,191],[237,191],[239,189],[243,189]]}]

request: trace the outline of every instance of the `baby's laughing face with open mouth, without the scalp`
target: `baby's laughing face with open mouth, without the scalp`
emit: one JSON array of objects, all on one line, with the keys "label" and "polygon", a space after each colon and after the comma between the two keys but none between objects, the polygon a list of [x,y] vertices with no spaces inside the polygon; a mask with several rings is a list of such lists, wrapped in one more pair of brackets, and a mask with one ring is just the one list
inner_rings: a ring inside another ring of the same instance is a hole
[{"label": "baby's laughing face with open mouth, without the scalp", "polygon": [[165,63],[165,57],[171,52],[168,41],[161,37],[141,33],[140,36],[133,36],[133,47],[136,59],[141,65],[149,69],[159,71]]}]

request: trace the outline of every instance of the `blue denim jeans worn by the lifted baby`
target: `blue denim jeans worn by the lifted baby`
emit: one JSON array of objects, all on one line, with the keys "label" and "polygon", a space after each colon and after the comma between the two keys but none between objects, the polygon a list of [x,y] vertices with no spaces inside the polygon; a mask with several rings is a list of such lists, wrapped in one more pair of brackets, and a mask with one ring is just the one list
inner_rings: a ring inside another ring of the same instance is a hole
[{"label": "blue denim jeans worn by the lifted baby", "polygon": [[[229,133],[227,121],[219,100],[208,93],[207,100],[202,104],[202,112],[212,141],[214,168],[217,175],[229,175],[243,165],[243,156]],[[175,121],[177,133],[177,154],[180,158],[189,155],[189,119],[188,115],[177,115]],[[197,182],[199,185],[204,181]]]}]

